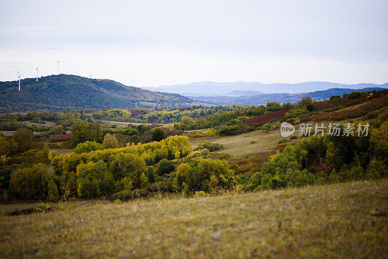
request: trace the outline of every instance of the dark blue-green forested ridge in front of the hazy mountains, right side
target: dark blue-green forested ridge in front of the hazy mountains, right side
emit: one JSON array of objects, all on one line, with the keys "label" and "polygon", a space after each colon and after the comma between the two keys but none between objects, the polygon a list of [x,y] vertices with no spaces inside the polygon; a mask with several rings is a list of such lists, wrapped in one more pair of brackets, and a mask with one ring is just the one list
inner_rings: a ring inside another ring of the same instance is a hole
[{"label": "dark blue-green forested ridge in front of the hazy mountains, right side", "polygon": [[[369,91],[369,90],[383,90],[381,87],[366,87],[357,89],[357,91]],[[196,96],[192,97],[196,102],[207,103],[210,105],[229,105],[229,104],[244,104],[244,105],[265,105],[268,102],[280,102],[280,103],[296,103],[302,99],[302,97],[309,96],[312,99],[329,99],[332,95],[340,95],[351,93],[355,89],[350,88],[332,88],[324,91],[315,91],[309,93],[297,93],[290,95],[289,93],[271,93],[271,94],[259,94],[253,96]]]}]

